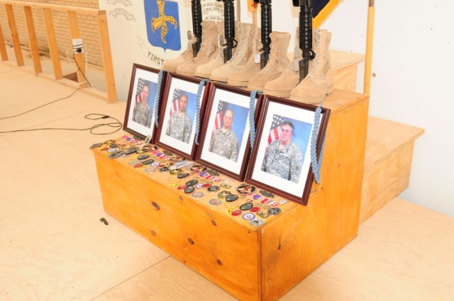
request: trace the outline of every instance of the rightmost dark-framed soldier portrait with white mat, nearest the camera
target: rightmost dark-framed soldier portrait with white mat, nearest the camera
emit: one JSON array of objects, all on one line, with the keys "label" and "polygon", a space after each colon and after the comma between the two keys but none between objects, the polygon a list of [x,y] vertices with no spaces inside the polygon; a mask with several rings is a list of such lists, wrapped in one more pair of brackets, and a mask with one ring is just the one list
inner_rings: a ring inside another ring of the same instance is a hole
[{"label": "rightmost dark-framed soldier portrait with white mat, nearest the camera", "polygon": [[[311,142],[316,106],[264,96],[262,114],[245,181],[288,200],[307,205],[314,175]],[[316,154],[331,110],[322,108]]]}]

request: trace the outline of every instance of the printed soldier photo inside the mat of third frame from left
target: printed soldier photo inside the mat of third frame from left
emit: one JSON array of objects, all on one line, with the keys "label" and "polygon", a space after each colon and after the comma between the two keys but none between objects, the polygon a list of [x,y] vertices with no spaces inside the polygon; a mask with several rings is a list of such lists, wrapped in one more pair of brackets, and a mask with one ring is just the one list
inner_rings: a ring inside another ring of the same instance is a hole
[{"label": "printed soldier photo inside the mat of third frame from left", "polygon": [[238,161],[247,120],[248,108],[219,101],[208,151],[231,161]]}]

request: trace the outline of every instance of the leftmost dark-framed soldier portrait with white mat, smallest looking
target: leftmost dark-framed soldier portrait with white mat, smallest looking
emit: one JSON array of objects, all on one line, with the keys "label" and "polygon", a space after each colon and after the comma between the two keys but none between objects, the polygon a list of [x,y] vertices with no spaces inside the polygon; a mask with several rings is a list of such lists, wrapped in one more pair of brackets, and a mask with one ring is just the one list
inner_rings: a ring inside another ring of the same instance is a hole
[{"label": "leftmost dark-framed soldier portrait with white mat, smallest looking", "polygon": [[159,70],[140,64],[133,64],[131,84],[129,85],[128,103],[123,123],[123,130],[139,137],[155,136],[155,100],[156,92],[165,84],[166,73],[158,84]]}]

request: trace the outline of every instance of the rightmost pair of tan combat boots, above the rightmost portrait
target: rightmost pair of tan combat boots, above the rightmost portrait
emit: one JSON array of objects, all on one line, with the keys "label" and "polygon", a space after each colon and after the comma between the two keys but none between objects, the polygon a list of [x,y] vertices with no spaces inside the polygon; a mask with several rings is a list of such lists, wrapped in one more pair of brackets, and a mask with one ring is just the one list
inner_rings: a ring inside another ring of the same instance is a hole
[{"label": "rightmost pair of tan combat boots, above the rightmost portrait", "polygon": [[[309,74],[299,81],[298,62],[302,59],[302,51],[296,47],[294,61],[282,74],[265,84],[263,92],[267,95],[289,97],[300,103],[320,103],[323,98],[333,92],[333,71],[328,51],[331,33],[327,30],[315,29],[312,34],[313,50],[316,57],[309,61]],[[299,29],[295,45],[299,45]]]}]

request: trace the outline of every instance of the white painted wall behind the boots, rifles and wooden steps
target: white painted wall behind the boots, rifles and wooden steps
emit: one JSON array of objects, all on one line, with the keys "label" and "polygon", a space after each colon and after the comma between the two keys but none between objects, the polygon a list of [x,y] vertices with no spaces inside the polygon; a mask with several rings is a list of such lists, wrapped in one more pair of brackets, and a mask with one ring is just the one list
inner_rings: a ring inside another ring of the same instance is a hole
[{"label": "white painted wall behind the boots, rifles and wooden steps", "polygon": [[[182,8],[189,7],[189,0],[177,1]],[[344,0],[321,25],[333,33],[331,49],[365,53],[368,2]],[[131,3],[132,7],[126,6]],[[138,49],[138,38],[147,40],[140,11],[143,1],[100,0],[99,5],[108,14],[121,6],[138,17],[133,22],[109,16],[117,93],[125,101],[133,62],[158,67]],[[289,52],[294,48],[298,11],[291,0],[272,0],[272,28],[292,34]],[[454,39],[449,32],[454,28],[453,11],[454,2],[448,0],[375,1],[372,73],[376,76],[371,83],[370,115],[426,130],[416,140],[409,188],[400,196],[454,217],[454,99],[450,91]],[[180,11],[180,17],[185,14]],[[240,21],[252,23],[245,0],[240,2]],[[153,50],[165,58],[178,54],[160,51]],[[360,92],[363,69],[360,66],[358,72]]]}]

